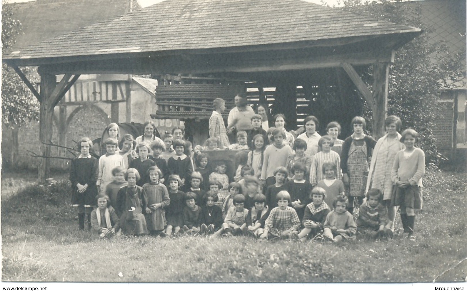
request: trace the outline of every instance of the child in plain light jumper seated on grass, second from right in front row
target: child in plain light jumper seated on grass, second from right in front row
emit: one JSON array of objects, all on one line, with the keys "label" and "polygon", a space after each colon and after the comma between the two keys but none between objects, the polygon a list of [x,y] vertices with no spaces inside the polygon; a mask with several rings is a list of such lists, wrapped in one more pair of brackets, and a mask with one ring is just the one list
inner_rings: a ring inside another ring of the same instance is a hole
[{"label": "child in plain light jumper seated on grass, second from right in front row", "polygon": [[357,225],[354,217],[347,211],[347,198],[338,197],[334,203],[334,210],[331,211],[324,222],[324,236],[333,242],[340,242],[343,239],[354,239]]}]

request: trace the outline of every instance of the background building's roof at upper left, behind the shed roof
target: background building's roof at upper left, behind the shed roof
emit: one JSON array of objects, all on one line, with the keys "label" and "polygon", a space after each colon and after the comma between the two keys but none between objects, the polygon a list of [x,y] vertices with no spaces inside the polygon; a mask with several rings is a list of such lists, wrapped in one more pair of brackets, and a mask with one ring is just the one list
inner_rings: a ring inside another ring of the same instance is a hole
[{"label": "background building's roof at upper left, behind the shed roof", "polygon": [[[36,0],[6,4],[21,22],[12,51],[78,28],[127,14],[131,0]],[[141,9],[133,0],[133,10]]]}]

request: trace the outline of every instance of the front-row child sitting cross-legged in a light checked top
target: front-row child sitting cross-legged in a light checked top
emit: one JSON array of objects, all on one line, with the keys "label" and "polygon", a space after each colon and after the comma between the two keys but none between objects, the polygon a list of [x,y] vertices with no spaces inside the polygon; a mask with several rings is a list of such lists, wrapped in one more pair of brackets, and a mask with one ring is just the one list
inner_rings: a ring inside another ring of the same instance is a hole
[{"label": "front-row child sitting cross-legged in a light checked top", "polygon": [[300,227],[297,212],[288,206],[290,204],[289,192],[283,190],[277,193],[276,201],[279,206],[272,209],[266,219],[264,232],[260,236],[262,239],[289,238],[292,232]]}]

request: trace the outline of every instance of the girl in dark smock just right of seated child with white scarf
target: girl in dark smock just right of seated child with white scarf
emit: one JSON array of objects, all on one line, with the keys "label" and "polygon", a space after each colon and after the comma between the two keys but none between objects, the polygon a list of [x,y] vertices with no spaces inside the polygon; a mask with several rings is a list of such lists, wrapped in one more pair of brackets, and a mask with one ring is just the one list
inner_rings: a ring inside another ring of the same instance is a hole
[{"label": "girl in dark smock just right of seated child with white scarf", "polygon": [[127,186],[121,187],[117,195],[117,209],[120,215],[120,227],[126,235],[148,234],[146,219],[142,213],[147,208],[148,197],[144,189],[136,185],[140,179],[140,173],[134,168],[129,168],[125,173]]}]

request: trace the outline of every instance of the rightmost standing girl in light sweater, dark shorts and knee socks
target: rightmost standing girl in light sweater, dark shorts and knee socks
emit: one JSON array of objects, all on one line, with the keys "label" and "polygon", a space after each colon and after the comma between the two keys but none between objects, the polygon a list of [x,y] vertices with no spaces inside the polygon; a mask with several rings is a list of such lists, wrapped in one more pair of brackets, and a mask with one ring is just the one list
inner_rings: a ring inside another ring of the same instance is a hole
[{"label": "rightmost standing girl in light sweater, dark shorts and knee socks", "polygon": [[425,175],[425,152],[415,147],[418,132],[406,129],[400,139],[405,150],[396,153],[391,171],[392,182],[396,189],[392,194],[391,206],[400,206],[404,232],[410,240],[415,224],[415,209],[422,209],[422,177]]}]

